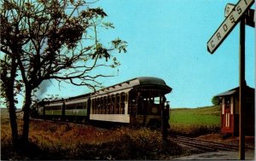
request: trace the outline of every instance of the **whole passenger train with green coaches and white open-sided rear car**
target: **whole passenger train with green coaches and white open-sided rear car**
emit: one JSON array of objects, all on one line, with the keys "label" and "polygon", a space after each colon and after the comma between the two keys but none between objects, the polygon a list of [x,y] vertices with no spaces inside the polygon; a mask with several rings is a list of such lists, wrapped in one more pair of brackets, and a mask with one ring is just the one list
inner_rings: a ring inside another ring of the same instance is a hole
[{"label": "whole passenger train with green coaches and white open-sided rear car", "polygon": [[133,78],[85,95],[40,101],[36,111],[44,119],[159,125],[171,91],[163,79]]}]

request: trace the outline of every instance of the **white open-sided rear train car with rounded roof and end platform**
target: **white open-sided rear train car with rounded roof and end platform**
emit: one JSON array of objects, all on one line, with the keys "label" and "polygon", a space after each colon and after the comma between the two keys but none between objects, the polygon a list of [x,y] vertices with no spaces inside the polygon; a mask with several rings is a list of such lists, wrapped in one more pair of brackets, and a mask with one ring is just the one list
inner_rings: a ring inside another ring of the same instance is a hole
[{"label": "white open-sided rear train car with rounded roof and end platform", "polygon": [[96,91],[90,96],[90,120],[160,124],[165,95],[172,89],[160,78],[141,77]]}]

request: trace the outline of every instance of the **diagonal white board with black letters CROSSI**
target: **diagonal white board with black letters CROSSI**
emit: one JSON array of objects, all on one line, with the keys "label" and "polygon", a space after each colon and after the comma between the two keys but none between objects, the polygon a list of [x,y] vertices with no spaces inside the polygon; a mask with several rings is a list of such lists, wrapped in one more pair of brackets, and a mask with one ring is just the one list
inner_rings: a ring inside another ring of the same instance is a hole
[{"label": "diagonal white board with black letters CROSSI", "polygon": [[207,50],[213,54],[218,46],[230,34],[236,24],[239,22],[241,15],[253,5],[254,0],[240,0],[230,14],[225,18],[223,23],[218,27],[218,30],[213,34],[207,42]]}]

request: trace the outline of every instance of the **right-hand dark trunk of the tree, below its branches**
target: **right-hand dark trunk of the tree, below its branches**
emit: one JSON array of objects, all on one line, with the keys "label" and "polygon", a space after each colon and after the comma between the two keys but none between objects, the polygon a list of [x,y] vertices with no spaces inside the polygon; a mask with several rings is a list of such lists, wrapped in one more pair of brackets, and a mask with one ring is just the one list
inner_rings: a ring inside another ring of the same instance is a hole
[{"label": "right-hand dark trunk of the tree, below its branches", "polygon": [[32,104],[32,89],[27,88],[25,93],[25,104],[23,106],[23,131],[22,131],[22,141],[24,144],[28,143],[28,133],[29,133],[29,112],[30,106]]}]

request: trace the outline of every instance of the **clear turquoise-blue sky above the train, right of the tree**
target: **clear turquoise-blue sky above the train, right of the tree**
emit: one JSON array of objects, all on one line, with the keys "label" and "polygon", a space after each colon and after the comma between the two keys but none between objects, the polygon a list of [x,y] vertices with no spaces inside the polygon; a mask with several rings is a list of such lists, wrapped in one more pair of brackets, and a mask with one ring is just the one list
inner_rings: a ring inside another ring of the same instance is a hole
[{"label": "clear turquoise-blue sky above the train, right of the tree", "polygon": [[[100,32],[101,40],[128,42],[118,55],[119,74],[102,79],[108,86],[130,78],[163,78],[172,87],[171,107],[211,106],[212,96],[239,85],[239,25],[213,55],[207,41],[224,21],[227,3],[237,0],[101,0],[94,4],[108,14],[115,28]],[[253,6],[254,8],[254,6]],[[246,27],[246,79],[255,85],[255,34]],[[113,70],[113,74],[116,70]],[[52,83],[44,95],[67,97],[89,89]]]}]

